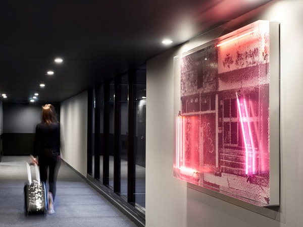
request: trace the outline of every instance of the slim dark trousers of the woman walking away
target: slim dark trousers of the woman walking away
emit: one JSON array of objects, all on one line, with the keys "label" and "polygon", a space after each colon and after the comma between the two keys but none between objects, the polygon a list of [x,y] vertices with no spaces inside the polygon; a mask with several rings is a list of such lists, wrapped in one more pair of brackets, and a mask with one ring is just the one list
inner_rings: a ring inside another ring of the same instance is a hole
[{"label": "slim dark trousers of the woman walking away", "polygon": [[58,170],[60,167],[60,160],[58,158],[50,158],[43,154],[39,155],[39,172],[40,180],[45,183],[47,181],[47,169],[48,169],[48,184],[49,192],[53,194],[53,199],[55,201],[56,197],[56,181],[58,176]]}]

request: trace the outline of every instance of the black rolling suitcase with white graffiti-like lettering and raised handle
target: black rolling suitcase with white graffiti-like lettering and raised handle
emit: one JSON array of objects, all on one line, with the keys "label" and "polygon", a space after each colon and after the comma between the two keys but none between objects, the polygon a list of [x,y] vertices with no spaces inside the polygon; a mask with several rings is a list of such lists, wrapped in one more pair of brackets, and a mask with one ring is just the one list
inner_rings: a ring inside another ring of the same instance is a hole
[{"label": "black rolling suitcase with white graffiti-like lettering and raised handle", "polygon": [[40,182],[40,174],[37,165],[34,165],[36,180],[31,178],[30,165],[27,165],[28,182],[24,186],[24,209],[27,215],[42,213],[45,215],[47,207],[46,188],[44,182]]}]

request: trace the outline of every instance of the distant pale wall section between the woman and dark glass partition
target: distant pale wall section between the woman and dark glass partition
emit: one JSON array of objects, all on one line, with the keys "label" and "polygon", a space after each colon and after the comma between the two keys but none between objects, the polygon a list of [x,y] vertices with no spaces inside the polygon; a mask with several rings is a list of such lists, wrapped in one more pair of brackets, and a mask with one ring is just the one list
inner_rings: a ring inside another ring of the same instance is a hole
[{"label": "distant pale wall section between the woman and dark glass partition", "polygon": [[86,177],[87,174],[87,92],[61,103],[60,122],[64,135],[63,159]]}]

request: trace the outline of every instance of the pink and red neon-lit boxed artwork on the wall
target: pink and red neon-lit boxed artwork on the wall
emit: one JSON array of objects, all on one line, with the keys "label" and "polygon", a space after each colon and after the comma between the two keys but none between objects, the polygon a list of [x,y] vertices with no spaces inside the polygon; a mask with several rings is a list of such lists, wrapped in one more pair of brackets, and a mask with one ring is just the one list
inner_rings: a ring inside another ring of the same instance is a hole
[{"label": "pink and red neon-lit boxed artwork on the wall", "polygon": [[257,21],[174,59],[174,177],[279,205],[279,23]]}]

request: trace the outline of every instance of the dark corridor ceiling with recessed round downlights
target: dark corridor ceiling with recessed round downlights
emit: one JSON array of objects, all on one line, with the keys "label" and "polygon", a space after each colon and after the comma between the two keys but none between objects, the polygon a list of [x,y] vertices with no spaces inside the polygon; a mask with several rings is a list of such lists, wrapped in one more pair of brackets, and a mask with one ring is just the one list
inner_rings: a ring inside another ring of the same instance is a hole
[{"label": "dark corridor ceiling with recessed round downlights", "polygon": [[268,2],[4,0],[0,98],[28,103],[37,92],[38,103],[64,101]]}]

